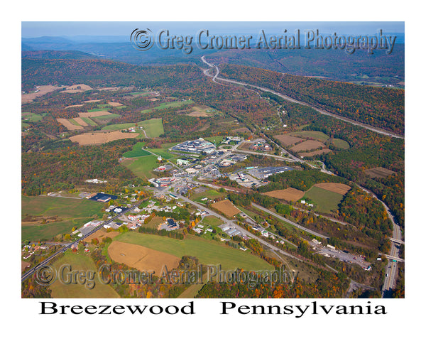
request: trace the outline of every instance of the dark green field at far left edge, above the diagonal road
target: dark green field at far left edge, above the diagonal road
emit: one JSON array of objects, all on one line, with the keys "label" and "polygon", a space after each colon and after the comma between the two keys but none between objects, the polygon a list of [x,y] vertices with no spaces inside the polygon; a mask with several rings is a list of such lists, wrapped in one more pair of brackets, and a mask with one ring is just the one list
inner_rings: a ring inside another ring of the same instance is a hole
[{"label": "dark green field at far left edge, above the diagonal road", "polygon": [[103,204],[85,199],[65,197],[21,197],[21,216],[58,216],[62,221],[47,224],[24,224],[21,228],[22,240],[51,239],[57,234],[70,233],[72,227],[81,227],[92,220],[93,215],[102,217]]}]

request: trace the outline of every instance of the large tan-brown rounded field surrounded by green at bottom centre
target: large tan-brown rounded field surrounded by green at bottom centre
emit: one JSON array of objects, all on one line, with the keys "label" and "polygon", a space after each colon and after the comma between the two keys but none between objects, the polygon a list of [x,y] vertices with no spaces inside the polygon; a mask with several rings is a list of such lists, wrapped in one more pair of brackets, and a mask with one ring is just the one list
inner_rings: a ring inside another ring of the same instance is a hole
[{"label": "large tan-brown rounded field surrounded by green at bottom centre", "polygon": [[108,254],[117,263],[126,264],[139,271],[155,271],[155,274],[161,274],[163,266],[175,269],[180,260],[172,254],[116,240],[109,245]]}]

